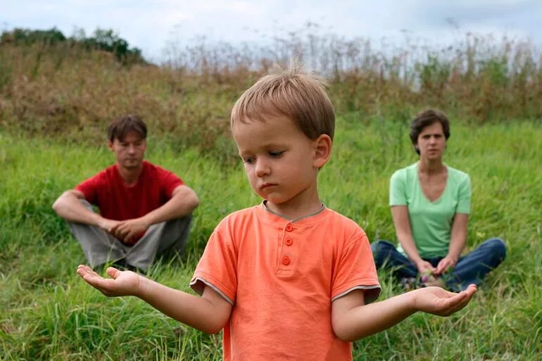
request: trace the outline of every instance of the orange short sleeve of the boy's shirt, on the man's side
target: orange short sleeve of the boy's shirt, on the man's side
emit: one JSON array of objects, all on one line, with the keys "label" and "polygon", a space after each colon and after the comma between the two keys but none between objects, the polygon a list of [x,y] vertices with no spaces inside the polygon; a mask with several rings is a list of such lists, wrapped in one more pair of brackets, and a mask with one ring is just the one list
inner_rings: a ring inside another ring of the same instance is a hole
[{"label": "orange short sleeve of the boy's shirt, on the man's side", "polygon": [[237,294],[237,252],[231,235],[227,229],[220,230],[220,226],[211,234],[190,286],[200,295],[205,286],[210,286],[233,305]]}]

